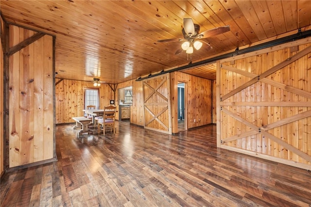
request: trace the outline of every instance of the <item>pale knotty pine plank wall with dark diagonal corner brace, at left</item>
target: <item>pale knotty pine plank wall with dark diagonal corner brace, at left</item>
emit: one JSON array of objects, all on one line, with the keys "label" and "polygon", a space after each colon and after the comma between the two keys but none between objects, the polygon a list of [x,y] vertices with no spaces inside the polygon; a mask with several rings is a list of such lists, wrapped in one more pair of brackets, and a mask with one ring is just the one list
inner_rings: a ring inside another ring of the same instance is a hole
[{"label": "pale knotty pine plank wall with dark diagonal corner brace, at left", "polygon": [[[9,167],[55,160],[53,37],[9,25]],[[26,41],[25,41],[26,40]]]}]

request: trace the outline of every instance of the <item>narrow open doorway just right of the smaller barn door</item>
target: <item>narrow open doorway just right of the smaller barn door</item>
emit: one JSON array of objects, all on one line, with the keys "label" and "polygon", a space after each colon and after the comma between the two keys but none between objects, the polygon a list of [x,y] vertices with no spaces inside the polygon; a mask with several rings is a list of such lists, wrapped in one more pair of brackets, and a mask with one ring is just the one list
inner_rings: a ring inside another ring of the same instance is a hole
[{"label": "narrow open doorway just right of the smaller barn door", "polygon": [[185,105],[185,87],[186,83],[178,82],[178,101],[177,101],[177,111],[178,111],[178,132],[187,130],[187,119],[186,119],[186,105]]}]

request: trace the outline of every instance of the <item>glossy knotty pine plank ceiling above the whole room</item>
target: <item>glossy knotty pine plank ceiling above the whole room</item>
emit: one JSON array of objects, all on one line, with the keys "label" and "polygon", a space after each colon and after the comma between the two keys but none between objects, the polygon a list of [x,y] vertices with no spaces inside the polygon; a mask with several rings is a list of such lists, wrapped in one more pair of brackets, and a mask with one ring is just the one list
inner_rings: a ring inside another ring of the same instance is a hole
[{"label": "glossy knotty pine plank ceiling above the whole room", "polygon": [[[309,0],[1,0],[1,16],[56,36],[57,78],[120,83],[188,64],[182,42],[183,18],[200,32],[230,25],[207,38],[192,62],[245,47],[311,25]],[[184,71],[214,80],[215,64]]]}]

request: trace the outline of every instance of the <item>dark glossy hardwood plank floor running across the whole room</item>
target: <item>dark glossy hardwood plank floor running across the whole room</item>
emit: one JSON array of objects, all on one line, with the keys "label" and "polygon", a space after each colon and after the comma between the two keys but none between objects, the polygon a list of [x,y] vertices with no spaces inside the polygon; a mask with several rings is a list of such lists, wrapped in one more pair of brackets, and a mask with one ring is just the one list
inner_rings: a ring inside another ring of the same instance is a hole
[{"label": "dark glossy hardwood plank floor running across the whole room", "polygon": [[1,206],[311,207],[310,172],[218,149],[215,125],[169,136],[116,124],[79,139],[57,126],[58,161],[5,174]]}]

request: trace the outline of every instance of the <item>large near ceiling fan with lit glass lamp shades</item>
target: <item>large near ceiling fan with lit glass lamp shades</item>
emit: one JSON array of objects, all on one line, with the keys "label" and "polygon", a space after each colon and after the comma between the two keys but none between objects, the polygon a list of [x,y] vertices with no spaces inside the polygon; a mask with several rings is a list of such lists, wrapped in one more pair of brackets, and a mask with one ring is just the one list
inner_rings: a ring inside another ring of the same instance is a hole
[{"label": "large near ceiling fan with lit glass lamp shades", "polygon": [[226,25],[199,33],[200,26],[194,24],[191,18],[184,18],[184,28],[182,29],[184,38],[158,40],[157,42],[183,41],[184,43],[181,45],[181,48],[175,52],[175,55],[181,53],[183,50],[185,50],[187,54],[192,54],[193,48],[198,50],[202,47],[203,43],[207,44],[209,49],[212,48],[206,41],[204,41],[207,37],[215,36],[228,31],[230,31],[230,26]]}]

